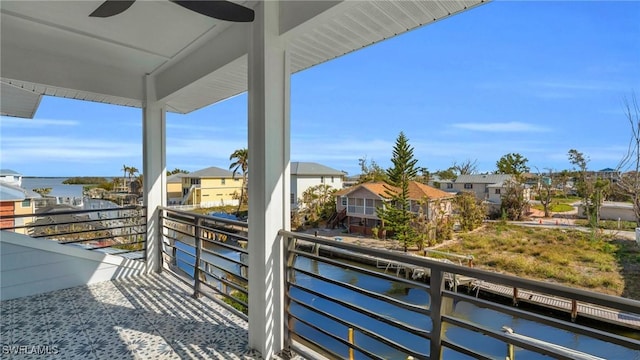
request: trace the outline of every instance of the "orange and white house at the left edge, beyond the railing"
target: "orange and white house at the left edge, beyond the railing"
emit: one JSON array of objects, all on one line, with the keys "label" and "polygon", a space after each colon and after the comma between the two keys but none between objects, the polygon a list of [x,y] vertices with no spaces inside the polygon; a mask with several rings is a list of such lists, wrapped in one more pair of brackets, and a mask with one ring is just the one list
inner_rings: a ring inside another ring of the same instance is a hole
[{"label": "orange and white house at the left edge, beyond the railing", "polygon": [[[33,222],[33,217],[7,219],[6,216],[33,214],[34,200],[39,198],[41,196],[36,192],[0,181],[0,229],[20,227]],[[26,229],[16,229],[16,232],[25,234]]]}]

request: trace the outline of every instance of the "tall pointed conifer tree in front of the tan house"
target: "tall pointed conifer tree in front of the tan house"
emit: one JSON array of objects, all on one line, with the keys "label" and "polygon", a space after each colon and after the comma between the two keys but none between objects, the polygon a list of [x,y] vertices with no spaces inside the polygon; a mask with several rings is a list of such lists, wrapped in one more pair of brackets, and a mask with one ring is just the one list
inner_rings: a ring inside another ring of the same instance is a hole
[{"label": "tall pointed conifer tree in front of the tan house", "polygon": [[418,174],[417,162],[413,158],[413,147],[404,133],[400,132],[393,147],[392,166],[387,169],[385,198],[389,204],[378,208],[377,212],[383,226],[393,230],[395,237],[403,242],[405,252],[415,239],[411,226],[414,215],[409,201],[409,182]]}]

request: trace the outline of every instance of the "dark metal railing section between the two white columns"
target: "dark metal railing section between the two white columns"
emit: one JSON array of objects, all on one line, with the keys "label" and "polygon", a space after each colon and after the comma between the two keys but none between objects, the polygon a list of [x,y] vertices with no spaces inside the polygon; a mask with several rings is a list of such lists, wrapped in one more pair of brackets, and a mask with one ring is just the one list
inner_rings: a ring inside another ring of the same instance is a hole
[{"label": "dark metal railing section between the two white columns", "polygon": [[248,318],[246,222],[160,207],[163,266],[204,295]]}]

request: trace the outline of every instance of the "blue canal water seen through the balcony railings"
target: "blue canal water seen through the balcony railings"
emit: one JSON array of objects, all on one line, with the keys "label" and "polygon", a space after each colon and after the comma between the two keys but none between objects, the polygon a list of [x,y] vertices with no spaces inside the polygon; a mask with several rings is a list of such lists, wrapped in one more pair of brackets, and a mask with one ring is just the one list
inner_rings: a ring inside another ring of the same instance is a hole
[{"label": "blue canal water seen through the balcony railings", "polygon": [[[192,247],[181,244],[181,248],[190,254],[195,254]],[[216,251],[219,251],[228,257],[236,259],[239,259],[240,257],[238,253],[227,249],[218,247]],[[179,266],[183,270],[187,271],[187,273],[193,275],[194,258],[186,254],[181,254],[180,252],[178,252],[177,258]],[[237,273],[239,270],[236,264],[230,262],[228,264],[223,264],[222,266],[232,273]],[[295,266],[296,268],[306,270],[314,274],[319,274],[329,279],[349,283],[368,291],[391,296],[410,304],[424,306],[426,308],[428,308],[430,304],[429,294],[427,290],[422,287],[408,286],[401,282],[382,280],[370,275],[345,270],[341,267],[317,262],[303,257],[297,257]],[[359,266],[362,265],[359,264]],[[431,330],[431,319],[427,315],[419,312],[399,308],[390,303],[373,299],[355,291],[307,276],[300,272],[296,272],[295,281],[303,287],[308,287],[327,296],[339,298],[349,304],[369,309],[386,319],[401,322],[415,329],[426,331]],[[349,321],[366,329],[371,329],[384,335],[388,339],[411,348],[425,356],[428,356],[429,354],[429,340],[426,338],[399,330],[385,322],[366,316],[361,312],[351,310],[347,307],[325,300],[297,288],[291,289],[291,296],[303,301],[305,304],[313,306],[314,308],[337,316],[340,319]],[[587,336],[555,329],[524,319],[514,318],[510,315],[497,311],[476,307],[468,302],[461,301],[457,303],[450,303],[448,304],[448,310],[448,314],[453,317],[475,324],[480,324],[481,326],[493,331],[501,332],[502,327],[507,326],[512,328],[516,334],[522,334],[550,343],[559,344],[564,347],[576,349],[605,359],[640,360],[640,351],[629,350],[624,347]],[[345,340],[347,339],[348,328],[341,323],[297,305],[295,302],[292,302],[291,312],[311,324],[321,326],[326,331],[340,336]],[[295,327],[296,332],[300,335],[313,339],[315,342],[331,349],[336,354],[340,354],[340,356],[348,358],[348,348],[344,344],[305,325],[302,322],[294,321],[293,326]],[[447,326],[445,324],[444,338],[467,348],[476,350],[480,349],[480,351],[488,357],[504,359],[507,356],[507,347],[503,342],[460,327],[452,325]],[[363,333],[355,333],[355,343],[383,358],[407,358],[407,354],[399,352]],[[515,358],[518,360],[548,359],[548,357],[523,349],[516,349],[515,355]],[[356,359],[365,358],[367,358],[367,356],[356,352]],[[446,348],[443,350],[443,358],[472,359],[471,357]]]}]

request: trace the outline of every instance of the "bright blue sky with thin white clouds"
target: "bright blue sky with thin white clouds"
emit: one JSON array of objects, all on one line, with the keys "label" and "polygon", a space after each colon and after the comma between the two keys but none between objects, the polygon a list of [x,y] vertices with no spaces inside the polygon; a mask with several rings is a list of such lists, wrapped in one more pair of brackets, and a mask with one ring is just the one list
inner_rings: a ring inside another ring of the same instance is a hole
[{"label": "bright blue sky with thin white clouds", "polygon": [[[640,2],[496,1],[292,77],[292,161],[349,174],[383,167],[400,131],[430,171],[571,168],[575,148],[615,167],[629,139],[623,98],[640,96]],[[167,115],[167,168],[228,168],[247,143],[246,94]],[[27,176],[142,169],[141,110],[45,97],[35,119],[2,117],[0,166]]]}]

